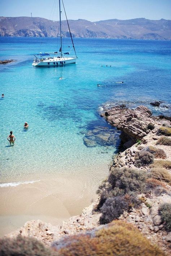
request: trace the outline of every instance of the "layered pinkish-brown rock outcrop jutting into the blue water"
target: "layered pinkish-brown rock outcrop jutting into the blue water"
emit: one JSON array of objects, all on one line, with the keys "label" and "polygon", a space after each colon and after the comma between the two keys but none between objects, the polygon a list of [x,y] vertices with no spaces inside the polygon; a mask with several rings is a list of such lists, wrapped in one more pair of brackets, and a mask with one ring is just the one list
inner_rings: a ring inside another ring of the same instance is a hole
[{"label": "layered pinkish-brown rock outcrop jutting into the blue water", "polygon": [[[128,109],[126,105],[115,106],[106,110],[101,116],[104,116],[111,125],[123,132],[120,138],[126,148],[149,134],[152,126],[156,128],[163,124],[160,117],[152,116],[152,112],[141,105],[136,109]],[[170,125],[169,122],[168,125]]]}]

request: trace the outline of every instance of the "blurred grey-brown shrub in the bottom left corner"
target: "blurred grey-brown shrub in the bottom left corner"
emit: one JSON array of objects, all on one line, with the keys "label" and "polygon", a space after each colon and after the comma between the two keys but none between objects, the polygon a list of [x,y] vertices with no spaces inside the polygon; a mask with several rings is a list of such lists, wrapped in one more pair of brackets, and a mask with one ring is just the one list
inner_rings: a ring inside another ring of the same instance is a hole
[{"label": "blurred grey-brown shrub in the bottom left corner", "polygon": [[57,256],[51,248],[44,246],[35,238],[22,237],[0,239],[0,255],[2,256]]}]

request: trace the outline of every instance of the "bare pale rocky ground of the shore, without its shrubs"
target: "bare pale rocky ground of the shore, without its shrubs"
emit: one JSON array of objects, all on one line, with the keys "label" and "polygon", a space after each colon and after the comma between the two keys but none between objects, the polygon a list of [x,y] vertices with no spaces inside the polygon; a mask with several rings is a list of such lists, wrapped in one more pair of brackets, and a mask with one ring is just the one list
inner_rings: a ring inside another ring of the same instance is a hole
[{"label": "bare pale rocky ground of the shore, without its shrubs", "polygon": [[[139,115],[141,116],[142,120],[137,119]],[[153,117],[149,109],[143,106],[140,106],[136,110],[130,110],[125,108],[124,106],[117,106],[113,109],[110,109],[108,111],[108,114],[103,113],[102,116],[106,116],[107,121],[110,122],[112,125],[119,127],[120,130],[124,130],[124,136],[121,136],[121,138],[123,139],[125,147],[127,146],[128,148],[125,149],[123,152],[118,153],[118,155],[114,159],[110,170],[116,167],[124,168],[124,166],[127,166],[128,168],[135,167],[135,153],[141,151],[143,148],[149,147],[150,145],[155,145],[156,147],[156,142],[161,137],[161,135],[157,134],[159,128],[161,126],[170,126],[170,121],[168,120],[168,118],[165,119]],[[132,122],[131,120],[138,120],[138,123],[141,123],[141,128],[144,128],[140,130],[140,126],[137,127],[137,125],[135,125],[135,122]],[[132,122],[132,129],[130,129],[130,121]],[[155,128],[152,130],[145,129],[146,122],[153,122]],[[138,129],[139,131],[137,134],[136,131]],[[126,136],[126,134],[128,136]],[[141,139],[141,143],[137,143],[137,138]],[[133,143],[132,146],[130,146],[130,143]],[[159,145],[157,147],[161,148],[166,153],[165,160],[162,161],[169,161],[171,159],[170,146]],[[155,162],[156,161],[157,160],[155,160]],[[141,167],[140,169],[148,170],[148,166]],[[168,172],[170,172],[169,169]],[[160,183],[157,186],[160,186]],[[169,194],[169,191],[170,185],[169,183],[165,183],[165,190],[164,192],[162,192],[162,195],[153,195],[153,197],[149,197],[148,194],[146,195],[145,193],[142,193],[140,195],[140,197],[142,198],[142,203],[140,207],[138,209],[132,208],[131,212],[124,212],[124,214],[120,216],[120,220],[130,222],[133,225],[137,226],[137,228],[141,231],[143,235],[145,235],[152,243],[158,244],[158,246],[162,248],[166,253],[170,252],[170,234],[163,229],[163,224],[161,222],[161,217],[158,214],[158,209],[162,203],[171,203],[171,196]],[[101,216],[101,213],[93,211],[93,209],[96,208],[95,205],[97,205],[98,203],[99,201],[97,200],[88,208],[83,209],[83,212],[80,216],[73,216],[69,220],[64,221],[59,226],[54,227],[51,224],[46,224],[42,221],[31,221],[27,222],[25,226],[18,231],[6,235],[6,237],[16,237],[18,234],[23,234],[24,236],[31,235],[37,237],[49,246],[52,241],[58,240],[64,235],[72,235],[80,231],[92,230],[93,228],[99,227],[99,218]],[[150,205],[150,208],[148,207],[148,205]],[[38,228],[39,226],[40,228]],[[34,230],[36,230],[36,233],[34,233]],[[40,233],[43,234],[41,235],[41,237]]]}]

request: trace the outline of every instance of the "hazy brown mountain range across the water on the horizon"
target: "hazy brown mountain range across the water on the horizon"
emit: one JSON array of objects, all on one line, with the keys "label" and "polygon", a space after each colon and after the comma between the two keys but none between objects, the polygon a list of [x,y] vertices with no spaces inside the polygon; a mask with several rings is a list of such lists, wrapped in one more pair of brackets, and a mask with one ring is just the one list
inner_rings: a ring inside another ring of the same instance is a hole
[{"label": "hazy brown mountain range across the water on the horizon", "polygon": [[[73,37],[171,40],[171,20],[108,19],[90,22],[69,20]],[[55,37],[59,22],[39,17],[0,17],[0,36]],[[69,35],[67,21],[62,21],[62,35]]]}]

